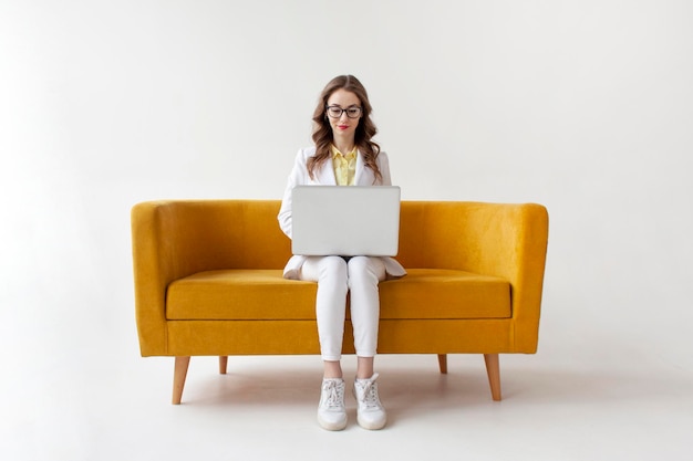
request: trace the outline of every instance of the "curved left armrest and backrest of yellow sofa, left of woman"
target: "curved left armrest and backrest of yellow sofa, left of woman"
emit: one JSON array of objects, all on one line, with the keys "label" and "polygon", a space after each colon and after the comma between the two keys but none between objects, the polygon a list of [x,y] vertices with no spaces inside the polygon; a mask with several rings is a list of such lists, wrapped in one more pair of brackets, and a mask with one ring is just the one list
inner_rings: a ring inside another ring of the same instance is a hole
[{"label": "curved left armrest and backrest of yellow sofa, left of woman", "polygon": [[143,356],[167,355],[168,284],[201,271],[280,269],[290,241],[278,200],[168,200],[132,209],[135,313]]}]

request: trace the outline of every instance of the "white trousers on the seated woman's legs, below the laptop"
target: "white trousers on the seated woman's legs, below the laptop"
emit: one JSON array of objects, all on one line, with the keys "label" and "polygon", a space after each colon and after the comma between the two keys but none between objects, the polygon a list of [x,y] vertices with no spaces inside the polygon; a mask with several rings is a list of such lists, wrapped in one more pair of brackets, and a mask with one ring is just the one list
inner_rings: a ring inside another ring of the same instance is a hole
[{"label": "white trousers on the seated woman's legs, below the laptop", "polygon": [[383,261],[369,256],[353,256],[349,262],[341,256],[310,256],[300,277],[318,282],[316,315],[322,359],[342,358],[348,292],[356,355],[374,357],[380,321],[377,283],[385,280]]}]

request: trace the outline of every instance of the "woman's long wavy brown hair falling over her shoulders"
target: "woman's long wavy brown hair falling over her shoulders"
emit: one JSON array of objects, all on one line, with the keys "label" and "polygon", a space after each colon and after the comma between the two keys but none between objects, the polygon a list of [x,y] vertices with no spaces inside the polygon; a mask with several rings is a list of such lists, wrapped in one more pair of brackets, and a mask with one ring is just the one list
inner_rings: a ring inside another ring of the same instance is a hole
[{"label": "woman's long wavy brown hair falling over her shoulders", "polygon": [[375,159],[380,154],[380,146],[377,143],[371,140],[377,133],[375,124],[371,119],[371,103],[369,102],[369,95],[365,87],[353,75],[340,75],[330,81],[320,95],[318,106],[313,112],[313,143],[316,144],[316,156],[308,159],[308,174],[311,179],[314,177],[314,171],[322,164],[324,164],[331,156],[330,145],[333,143],[332,127],[328,119],[328,99],[338,90],[345,90],[356,95],[361,102],[361,118],[354,133],[354,143],[356,148],[363,157],[363,163],[366,167],[373,170],[375,175],[375,182],[382,181],[383,177],[377,168]]}]

